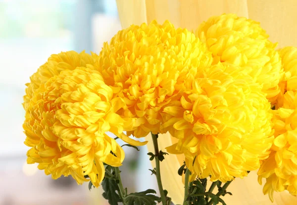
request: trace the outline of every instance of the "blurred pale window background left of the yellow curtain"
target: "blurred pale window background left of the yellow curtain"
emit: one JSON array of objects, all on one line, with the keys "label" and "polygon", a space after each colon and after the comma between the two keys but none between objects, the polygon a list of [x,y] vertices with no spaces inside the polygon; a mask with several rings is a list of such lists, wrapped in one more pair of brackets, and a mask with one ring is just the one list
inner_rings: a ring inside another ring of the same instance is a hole
[{"label": "blurred pale window background left of the yellow curtain", "polygon": [[[115,0],[0,0],[0,205],[107,205],[100,188],[26,164],[22,102],[25,83],[51,54],[99,53],[120,29]],[[125,149],[124,186],[156,190],[147,148]]]}]

